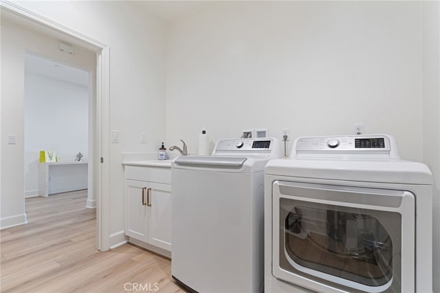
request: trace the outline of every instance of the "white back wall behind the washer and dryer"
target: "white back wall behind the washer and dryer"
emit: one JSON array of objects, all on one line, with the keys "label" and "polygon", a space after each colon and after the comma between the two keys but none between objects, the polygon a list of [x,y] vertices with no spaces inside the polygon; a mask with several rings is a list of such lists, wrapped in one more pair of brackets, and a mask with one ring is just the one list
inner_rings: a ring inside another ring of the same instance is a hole
[{"label": "white back wall behind the washer and dryer", "polygon": [[[422,160],[421,4],[417,1],[221,1],[170,24],[166,133],[197,153],[267,128],[303,135],[395,136]],[[185,109],[185,111],[182,111]],[[354,133],[353,133],[354,134]]]}]

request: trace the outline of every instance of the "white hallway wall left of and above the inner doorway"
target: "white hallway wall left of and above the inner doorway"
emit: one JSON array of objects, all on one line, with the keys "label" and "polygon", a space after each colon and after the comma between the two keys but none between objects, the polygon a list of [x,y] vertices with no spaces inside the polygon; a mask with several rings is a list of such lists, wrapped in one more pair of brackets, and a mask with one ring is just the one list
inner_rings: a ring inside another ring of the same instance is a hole
[{"label": "white hallway wall left of and above the inner doorway", "polygon": [[[1,221],[0,228],[25,222],[24,204],[24,80],[25,51],[74,65],[95,75],[96,55],[76,47],[69,55],[58,40],[33,32],[1,16]],[[8,144],[7,135],[17,135]]]}]

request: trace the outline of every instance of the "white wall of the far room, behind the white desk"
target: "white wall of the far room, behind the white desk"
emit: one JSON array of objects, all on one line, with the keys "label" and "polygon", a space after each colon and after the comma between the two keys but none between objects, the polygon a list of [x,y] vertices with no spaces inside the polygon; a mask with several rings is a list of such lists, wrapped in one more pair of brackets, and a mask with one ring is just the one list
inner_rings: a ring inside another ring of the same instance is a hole
[{"label": "white wall of the far room, behind the white desk", "polygon": [[[88,158],[89,89],[25,72],[25,197],[39,194],[39,151],[63,161]],[[86,184],[87,186],[87,180]]]}]

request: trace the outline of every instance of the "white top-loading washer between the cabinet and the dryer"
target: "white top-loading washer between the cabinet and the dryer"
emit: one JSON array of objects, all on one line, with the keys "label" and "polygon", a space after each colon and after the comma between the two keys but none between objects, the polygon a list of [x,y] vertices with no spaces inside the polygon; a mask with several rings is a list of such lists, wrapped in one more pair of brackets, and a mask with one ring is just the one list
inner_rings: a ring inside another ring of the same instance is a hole
[{"label": "white top-loading washer between the cabinet and the dryer", "polygon": [[264,167],[274,138],[226,139],[173,162],[173,278],[196,292],[262,292]]}]

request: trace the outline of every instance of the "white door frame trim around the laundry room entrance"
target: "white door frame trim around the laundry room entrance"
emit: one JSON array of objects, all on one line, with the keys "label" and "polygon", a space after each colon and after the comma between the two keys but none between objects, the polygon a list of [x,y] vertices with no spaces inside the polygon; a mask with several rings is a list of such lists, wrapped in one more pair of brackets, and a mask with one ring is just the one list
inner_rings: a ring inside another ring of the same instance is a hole
[{"label": "white door frame trim around the laundry room entrance", "polygon": [[[98,250],[109,250],[109,85],[110,47],[65,25],[42,17],[10,1],[1,1],[2,12],[14,21],[87,50],[96,52],[96,111],[94,141],[89,140],[89,169],[93,170],[93,190],[96,192],[96,228]],[[23,197],[24,201],[24,197]]]}]

